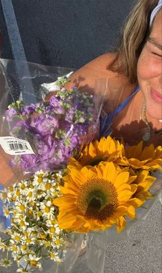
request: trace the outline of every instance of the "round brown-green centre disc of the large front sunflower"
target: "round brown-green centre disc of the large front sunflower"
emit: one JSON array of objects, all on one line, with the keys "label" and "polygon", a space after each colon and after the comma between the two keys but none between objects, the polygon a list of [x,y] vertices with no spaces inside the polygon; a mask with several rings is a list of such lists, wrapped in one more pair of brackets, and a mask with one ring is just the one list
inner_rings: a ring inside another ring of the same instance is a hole
[{"label": "round brown-green centre disc of the large front sunflower", "polygon": [[80,187],[77,206],[79,212],[86,217],[107,219],[117,208],[115,186],[105,179],[89,179]]}]

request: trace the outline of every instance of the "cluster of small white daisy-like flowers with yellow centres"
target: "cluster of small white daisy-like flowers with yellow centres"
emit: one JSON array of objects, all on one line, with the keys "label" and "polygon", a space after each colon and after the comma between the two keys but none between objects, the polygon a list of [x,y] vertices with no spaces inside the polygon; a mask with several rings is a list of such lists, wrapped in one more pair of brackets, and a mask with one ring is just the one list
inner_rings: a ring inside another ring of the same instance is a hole
[{"label": "cluster of small white daisy-like flowers with yellow centres", "polygon": [[[58,227],[58,209],[53,204],[54,198],[61,195],[61,180],[61,173],[37,171],[30,179],[1,190],[3,212],[5,217],[12,215],[12,226],[5,230],[7,239],[0,239],[0,250],[12,252],[19,267],[17,272],[41,269],[41,258],[61,262],[66,233]],[[21,266],[22,259],[25,268]],[[8,266],[10,260],[4,259],[0,264]]]}]

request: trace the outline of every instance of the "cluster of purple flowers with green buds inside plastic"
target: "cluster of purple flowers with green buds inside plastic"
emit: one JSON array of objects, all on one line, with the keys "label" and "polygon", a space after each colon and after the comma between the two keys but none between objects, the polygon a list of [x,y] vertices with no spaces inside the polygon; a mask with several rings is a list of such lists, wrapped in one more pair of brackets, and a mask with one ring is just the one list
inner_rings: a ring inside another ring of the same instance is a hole
[{"label": "cluster of purple flowers with green buds inside plastic", "polygon": [[49,101],[24,107],[15,102],[6,111],[12,135],[30,142],[32,155],[15,155],[12,165],[23,171],[58,170],[86,144],[96,119],[93,96],[60,86]]}]

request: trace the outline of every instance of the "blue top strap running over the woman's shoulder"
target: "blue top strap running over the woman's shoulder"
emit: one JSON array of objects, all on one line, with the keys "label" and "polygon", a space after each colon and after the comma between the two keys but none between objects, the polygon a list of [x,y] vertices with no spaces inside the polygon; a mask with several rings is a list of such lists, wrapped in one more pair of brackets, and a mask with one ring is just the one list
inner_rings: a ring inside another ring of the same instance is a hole
[{"label": "blue top strap running over the woman's shoulder", "polygon": [[101,136],[107,136],[111,134],[111,124],[113,122],[113,118],[115,116],[117,116],[117,114],[122,111],[122,109],[124,109],[124,107],[126,107],[126,105],[128,105],[128,102],[130,102],[130,100],[132,99],[133,96],[135,96],[135,94],[137,94],[137,92],[140,90],[139,85],[137,86],[137,88],[135,89],[135,91],[132,92],[132,94],[130,94],[130,96],[128,96],[128,98],[126,98],[126,100],[124,100],[124,102],[121,103],[121,105],[119,105],[117,107],[117,109],[115,109],[115,111],[113,111],[113,113],[110,113],[107,116],[104,116],[103,118],[100,117],[100,135]]}]

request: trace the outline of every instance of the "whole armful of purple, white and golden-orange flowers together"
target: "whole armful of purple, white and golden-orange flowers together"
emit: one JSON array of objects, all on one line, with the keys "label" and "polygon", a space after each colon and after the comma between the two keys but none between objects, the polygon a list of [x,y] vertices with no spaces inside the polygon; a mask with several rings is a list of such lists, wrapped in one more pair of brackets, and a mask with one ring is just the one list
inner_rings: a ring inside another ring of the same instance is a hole
[{"label": "whole armful of purple, white and golden-orange flowers together", "polygon": [[17,272],[45,271],[46,259],[54,261],[52,272],[71,272],[84,238],[87,264],[102,272],[100,248],[142,219],[161,188],[162,147],[99,140],[101,100],[96,105],[94,96],[76,87],[67,91],[66,83],[58,78],[49,101],[15,100],[3,123],[10,125],[3,127],[10,137],[4,144],[3,133],[1,147],[10,150],[9,168],[21,175],[0,193],[6,223],[0,263],[16,261]]}]

